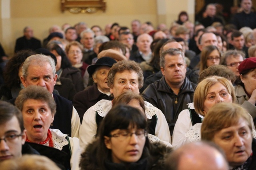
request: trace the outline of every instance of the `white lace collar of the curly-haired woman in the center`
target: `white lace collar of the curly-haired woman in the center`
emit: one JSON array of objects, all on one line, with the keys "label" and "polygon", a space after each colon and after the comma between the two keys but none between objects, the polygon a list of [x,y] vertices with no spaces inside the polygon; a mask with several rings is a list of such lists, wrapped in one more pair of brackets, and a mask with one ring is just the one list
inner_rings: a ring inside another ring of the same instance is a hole
[{"label": "white lace collar of the curly-haired woman in the center", "polygon": [[[144,102],[145,102],[146,116],[148,119],[152,119],[152,116],[156,114],[156,112],[158,111],[158,108],[156,108],[155,106],[153,106],[152,104],[146,101]],[[93,110],[97,111],[101,117],[105,117],[108,111],[110,111],[111,107],[112,107],[112,101],[104,100],[104,99],[100,100],[94,106],[92,106]]]}]

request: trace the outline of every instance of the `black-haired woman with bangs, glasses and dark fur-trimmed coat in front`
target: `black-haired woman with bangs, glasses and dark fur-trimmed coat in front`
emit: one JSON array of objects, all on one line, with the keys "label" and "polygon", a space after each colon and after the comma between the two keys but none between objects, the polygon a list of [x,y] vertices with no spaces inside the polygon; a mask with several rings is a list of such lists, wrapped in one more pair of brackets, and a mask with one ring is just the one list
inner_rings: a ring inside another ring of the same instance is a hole
[{"label": "black-haired woman with bangs, glasses and dark fur-trimmed coat in front", "polygon": [[81,170],[163,169],[147,135],[142,111],[124,105],[112,108],[99,127],[98,137],[82,153]]}]

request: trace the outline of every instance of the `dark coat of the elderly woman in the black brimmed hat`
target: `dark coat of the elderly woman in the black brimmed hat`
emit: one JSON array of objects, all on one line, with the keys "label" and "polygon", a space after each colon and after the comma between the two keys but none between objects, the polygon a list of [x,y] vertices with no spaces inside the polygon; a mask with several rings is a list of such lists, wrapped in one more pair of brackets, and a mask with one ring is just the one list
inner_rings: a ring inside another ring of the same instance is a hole
[{"label": "dark coat of the elderly woman in the black brimmed hat", "polygon": [[94,104],[102,99],[112,100],[113,98],[111,96],[101,93],[97,88],[97,84],[86,88],[86,90],[78,92],[74,96],[73,105],[78,112],[81,123],[86,110],[89,109],[91,106],[94,106]]}]

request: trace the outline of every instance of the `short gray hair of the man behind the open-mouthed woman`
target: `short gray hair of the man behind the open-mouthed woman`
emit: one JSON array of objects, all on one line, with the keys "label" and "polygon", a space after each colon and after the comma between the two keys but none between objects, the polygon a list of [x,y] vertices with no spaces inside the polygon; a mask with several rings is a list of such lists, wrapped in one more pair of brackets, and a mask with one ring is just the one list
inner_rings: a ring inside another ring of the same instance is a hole
[{"label": "short gray hair of the man behind the open-mouthed woman", "polygon": [[46,63],[49,63],[50,66],[52,67],[52,75],[54,76],[56,74],[54,60],[52,59],[52,57],[48,57],[48,56],[42,55],[42,54],[31,55],[25,60],[23,66],[22,66],[22,76],[25,79],[27,78],[28,67],[30,66],[30,64],[44,66]]}]

